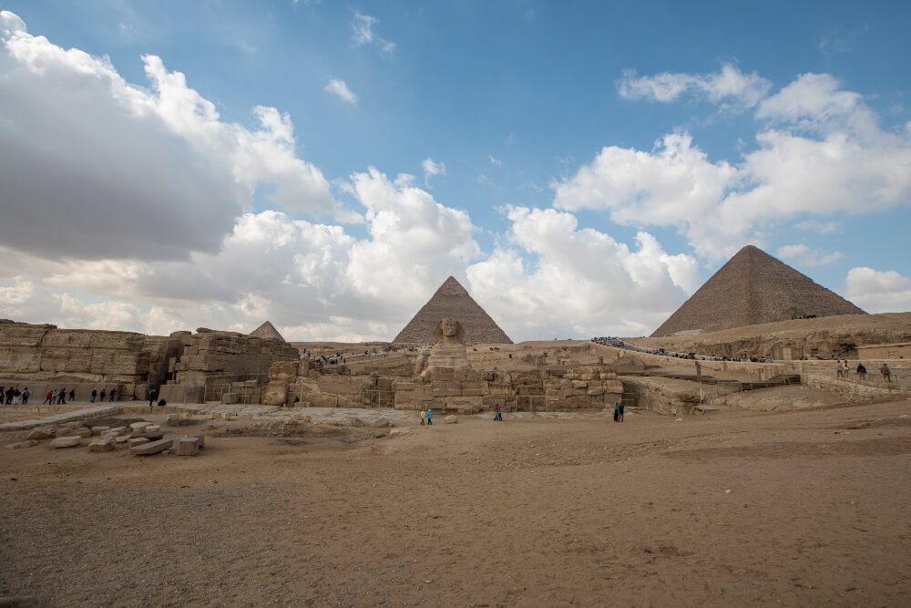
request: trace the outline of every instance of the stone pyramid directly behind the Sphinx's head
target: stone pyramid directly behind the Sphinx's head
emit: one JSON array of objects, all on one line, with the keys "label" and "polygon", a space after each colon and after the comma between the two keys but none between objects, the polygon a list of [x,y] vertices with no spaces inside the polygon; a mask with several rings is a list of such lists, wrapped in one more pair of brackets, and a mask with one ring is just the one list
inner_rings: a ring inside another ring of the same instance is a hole
[{"label": "stone pyramid directly behind the Sphinx's head", "polygon": [[427,304],[417,311],[415,318],[395,336],[393,342],[432,344],[435,341],[436,325],[446,317],[462,324],[466,344],[512,344],[509,336],[475,302],[465,287],[451,276],[440,285]]}]

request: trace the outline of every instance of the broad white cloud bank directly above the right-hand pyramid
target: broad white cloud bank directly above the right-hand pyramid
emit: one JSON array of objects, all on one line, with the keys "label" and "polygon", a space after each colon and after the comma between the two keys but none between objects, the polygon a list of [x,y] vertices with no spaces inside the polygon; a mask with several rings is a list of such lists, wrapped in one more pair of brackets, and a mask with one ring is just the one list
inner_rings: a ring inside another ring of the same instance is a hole
[{"label": "broad white cloud bank directly above the right-hand pyramid", "polygon": [[741,162],[713,161],[676,132],[650,151],[608,146],[556,184],[555,205],[613,221],[674,226],[722,259],[805,216],[882,211],[911,201],[911,130],[882,129],[857,94],[804,75],[757,109],[763,128]]}]

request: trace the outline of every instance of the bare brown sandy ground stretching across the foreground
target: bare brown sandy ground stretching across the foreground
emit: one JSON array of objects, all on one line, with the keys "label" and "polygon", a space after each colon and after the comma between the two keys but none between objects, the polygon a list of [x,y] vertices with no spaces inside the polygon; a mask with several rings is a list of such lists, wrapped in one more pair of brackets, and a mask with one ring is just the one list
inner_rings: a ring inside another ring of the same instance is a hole
[{"label": "bare brown sandy ground stretching across the foreground", "polygon": [[0,596],[907,605],[908,415],[463,417],[354,444],[210,438],[193,458],[2,449]]}]

